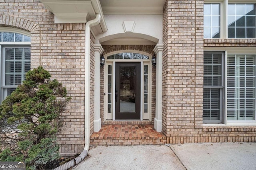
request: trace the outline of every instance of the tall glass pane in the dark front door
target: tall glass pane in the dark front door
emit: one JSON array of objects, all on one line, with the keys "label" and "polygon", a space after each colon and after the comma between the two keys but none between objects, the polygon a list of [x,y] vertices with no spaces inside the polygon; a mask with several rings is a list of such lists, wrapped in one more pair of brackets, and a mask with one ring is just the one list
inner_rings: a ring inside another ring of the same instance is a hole
[{"label": "tall glass pane in the dark front door", "polygon": [[136,66],[120,66],[120,112],[135,112]]}]

